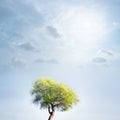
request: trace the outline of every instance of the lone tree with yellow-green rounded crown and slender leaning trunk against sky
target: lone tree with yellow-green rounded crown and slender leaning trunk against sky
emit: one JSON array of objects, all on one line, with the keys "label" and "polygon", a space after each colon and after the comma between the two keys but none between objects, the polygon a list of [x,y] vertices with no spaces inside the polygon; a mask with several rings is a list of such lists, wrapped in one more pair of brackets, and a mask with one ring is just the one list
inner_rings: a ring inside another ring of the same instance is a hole
[{"label": "lone tree with yellow-green rounded crown and slender leaning trunk against sky", "polygon": [[67,111],[79,102],[73,90],[49,78],[35,81],[31,93],[34,96],[33,103],[40,104],[40,108],[48,109],[48,120],[53,119],[55,110]]}]

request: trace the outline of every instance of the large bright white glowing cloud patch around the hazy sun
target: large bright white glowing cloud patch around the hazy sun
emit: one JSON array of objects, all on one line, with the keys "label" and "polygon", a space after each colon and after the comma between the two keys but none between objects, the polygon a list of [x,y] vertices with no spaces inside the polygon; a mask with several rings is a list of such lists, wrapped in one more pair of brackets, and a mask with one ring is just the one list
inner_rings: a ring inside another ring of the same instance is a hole
[{"label": "large bright white glowing cloud patch around the hazy sun", "polygon": [[104,14],[96,8],[83,6],[67,7],[55,17],[53,24],[63,34],[66,42],[79,43],[83,47],[98,42],[108,32]]}]

